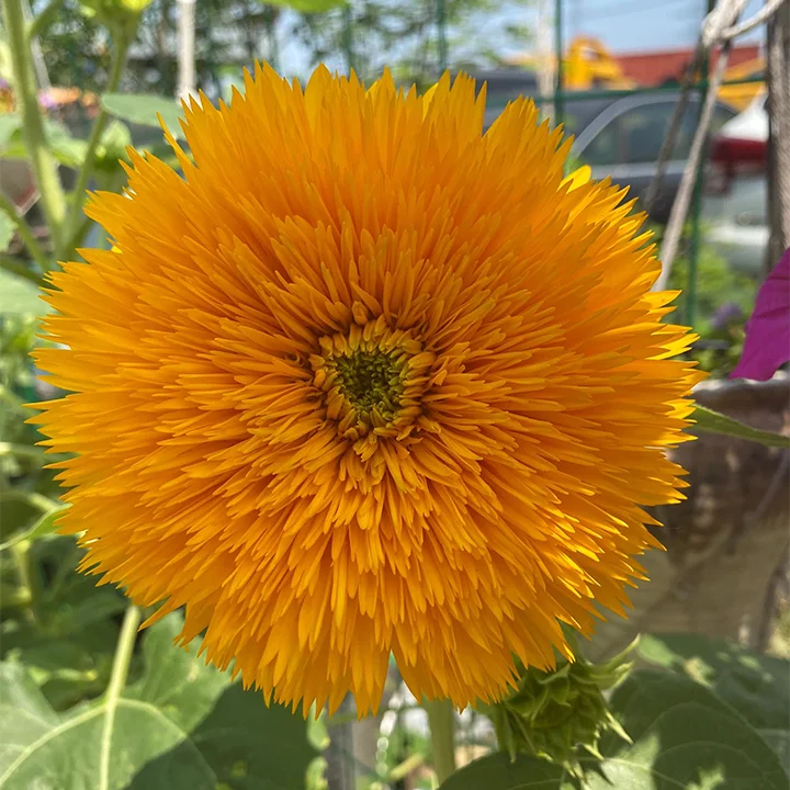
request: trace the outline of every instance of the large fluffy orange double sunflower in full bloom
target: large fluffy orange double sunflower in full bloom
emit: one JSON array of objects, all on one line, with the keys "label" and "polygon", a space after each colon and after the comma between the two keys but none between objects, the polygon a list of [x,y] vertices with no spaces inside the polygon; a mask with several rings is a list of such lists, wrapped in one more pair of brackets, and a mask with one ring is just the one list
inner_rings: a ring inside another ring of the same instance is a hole
[{"label": "large fluffy orange double sunflower in full bloom", "polygon": [[268,67],[185,108],[184,178],[133,154],[88,213],[115,251],[52,275],[35,418],[84,568],[185,607],[246,685],[493,700],[622,612],[642,509],[681,498],[691,340],[641,216],[485,90]]}]

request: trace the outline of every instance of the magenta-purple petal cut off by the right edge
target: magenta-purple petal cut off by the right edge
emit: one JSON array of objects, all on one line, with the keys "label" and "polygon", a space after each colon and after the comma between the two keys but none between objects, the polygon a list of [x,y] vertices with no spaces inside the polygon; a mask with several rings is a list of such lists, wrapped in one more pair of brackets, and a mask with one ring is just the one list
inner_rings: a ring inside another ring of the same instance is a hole
[{"label": "magenta-purple petal cut off by the right edge", "polygon": [[746,324],[746,342],[731,379],[768,381],[790,361],[790,248],[763,283]]}]

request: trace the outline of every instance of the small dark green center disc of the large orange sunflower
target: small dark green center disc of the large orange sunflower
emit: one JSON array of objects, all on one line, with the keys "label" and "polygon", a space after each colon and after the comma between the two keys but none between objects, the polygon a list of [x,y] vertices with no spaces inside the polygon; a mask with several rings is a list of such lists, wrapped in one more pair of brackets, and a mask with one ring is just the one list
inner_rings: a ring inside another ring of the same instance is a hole
[{"label": "small dark green center disc of the large orange sunflower", "polygon": [[396,357],[380,349],[358,349],[349,357],[338,357],[332,362],[338,372],[340,392],[358,414],[369,414],[375,408],[382,416],[392,415],[400,405],[403,356]]}]

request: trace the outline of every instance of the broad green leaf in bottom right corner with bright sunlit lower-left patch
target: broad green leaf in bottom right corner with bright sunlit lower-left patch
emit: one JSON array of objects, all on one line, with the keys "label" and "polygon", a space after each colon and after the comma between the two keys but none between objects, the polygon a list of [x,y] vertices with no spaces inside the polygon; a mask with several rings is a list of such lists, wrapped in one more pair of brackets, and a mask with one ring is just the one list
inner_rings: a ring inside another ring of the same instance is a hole
[{"label": "broad green leaf in bottom right corner with bright sunlit lower-left patch", "polygon": [[607,735],[605,760],[586,790],[787,790],[788,775],[766,742],[687,677],[634,673],[612,695],[610,709],[633,743]]}]

